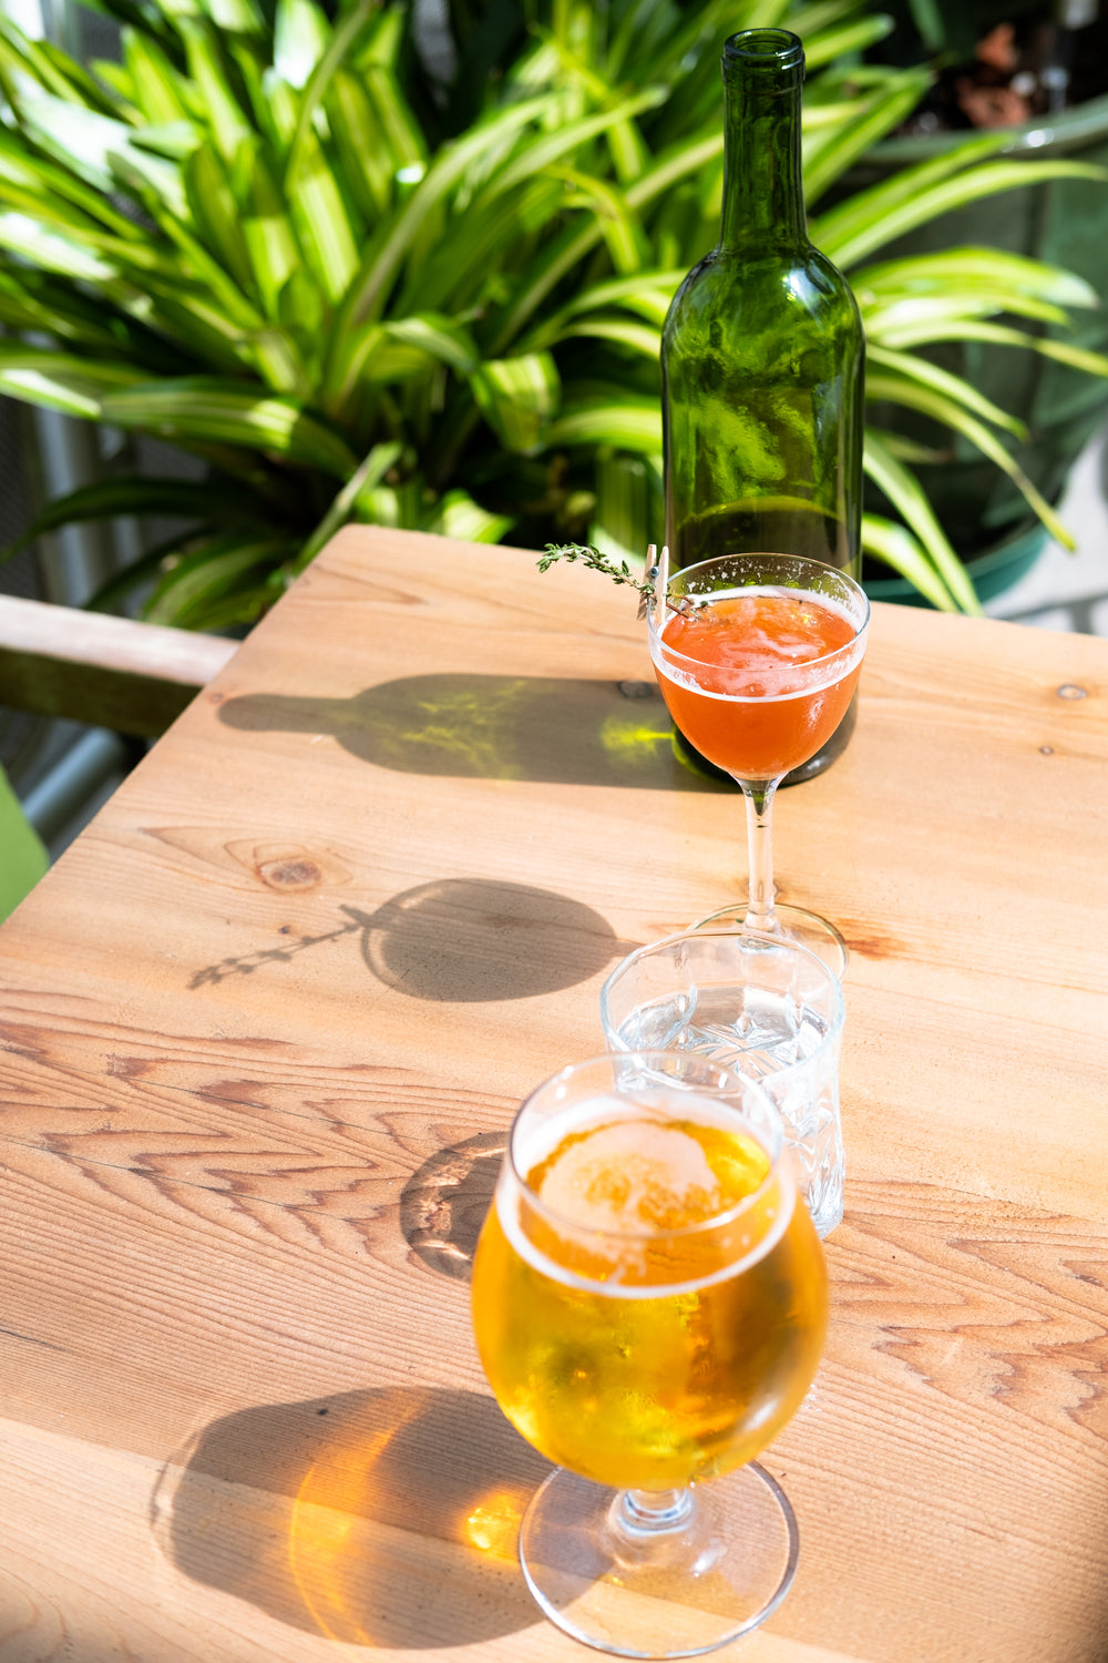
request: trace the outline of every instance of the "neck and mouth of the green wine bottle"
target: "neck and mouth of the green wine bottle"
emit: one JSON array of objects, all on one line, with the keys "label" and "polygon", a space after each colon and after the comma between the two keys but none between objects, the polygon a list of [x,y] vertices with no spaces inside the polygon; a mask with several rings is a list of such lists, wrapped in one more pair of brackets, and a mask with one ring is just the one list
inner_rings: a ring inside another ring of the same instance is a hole
[{"label": "neck and mouth of the green wine bottle", "polygon": [[807,246],[801,170],[804,52],[786,30],[733,35],[723,53],[721,248]]}]

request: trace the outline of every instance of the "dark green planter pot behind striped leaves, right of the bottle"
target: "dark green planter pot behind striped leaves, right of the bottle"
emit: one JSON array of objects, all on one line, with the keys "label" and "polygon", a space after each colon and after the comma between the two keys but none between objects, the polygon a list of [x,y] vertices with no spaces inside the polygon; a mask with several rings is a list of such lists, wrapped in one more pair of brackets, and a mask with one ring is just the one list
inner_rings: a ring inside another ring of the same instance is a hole
[{"label": "dark green planter pot behind striped leaves, right of the bottle", "polygon": [[[934,133],[887,140],[852,170],[851,190],[932,161],[965,136]],[[1108,96],[1012,128],[1002,155],[1108,165]],[[1075,311],[1073,331],[1060,333],[1060,338],[1091,351],[1108,351],[1108,185],[1098,180],[1043,180],[1002,191],[920,226],[884,249],[880,258],[905,258],[957,244],[1008,249],[1078,273],[1098,293],[1101,306],[1098,311]],[[1037,328],[1017,323],[1028,333]],[[1108,412],[1108,379],[1052,363],[1038,353],[987,343],[952,343],[929,356],[1027,422],[1030,441],[1017,446],[1013,454],[1042,494],[1058,501],[1081,447]],[[877,426],[890,426],[925,444],[947,444],[945,432],[940,436],[940,429],[925,417],[880,406],[870,409]],[[1015,486],[960,437],[954,442],[950,461],[919,464],[917,472],[944,530],[967,562],[1027,522],[1027,502]]]}]

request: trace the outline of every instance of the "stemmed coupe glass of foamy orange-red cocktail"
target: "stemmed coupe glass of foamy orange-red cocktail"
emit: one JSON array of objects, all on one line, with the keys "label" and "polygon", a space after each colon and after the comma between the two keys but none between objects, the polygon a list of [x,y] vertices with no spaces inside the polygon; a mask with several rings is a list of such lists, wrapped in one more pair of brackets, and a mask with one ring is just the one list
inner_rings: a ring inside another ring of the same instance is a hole
[{"label": "stemmed coupe glass of foamy orange-red cocktail", "polygon": [[650,650],[669,715],[746,798],[746,903],[701,925],[784,933],[842,975],[826,918],[774,905],[772,802],[781,780],[836,732],[857,687],[869,600],[852,577],[791,554],[731,554],[669,577],[650,614]]}]

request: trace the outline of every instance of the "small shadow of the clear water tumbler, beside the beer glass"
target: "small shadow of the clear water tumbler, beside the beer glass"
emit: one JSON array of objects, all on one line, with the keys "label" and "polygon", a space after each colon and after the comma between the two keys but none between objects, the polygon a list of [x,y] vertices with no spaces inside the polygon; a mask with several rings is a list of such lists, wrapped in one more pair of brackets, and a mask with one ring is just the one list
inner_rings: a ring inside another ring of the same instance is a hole
[{"label": "small shadow of the clear water tumbler, beside the beer glass", "polygon": [[468,1282],[507,1146],[507,1129],[478,1133],[437,1149],[409,1177],[400,1196],[400,1231],[429,1269]]}]

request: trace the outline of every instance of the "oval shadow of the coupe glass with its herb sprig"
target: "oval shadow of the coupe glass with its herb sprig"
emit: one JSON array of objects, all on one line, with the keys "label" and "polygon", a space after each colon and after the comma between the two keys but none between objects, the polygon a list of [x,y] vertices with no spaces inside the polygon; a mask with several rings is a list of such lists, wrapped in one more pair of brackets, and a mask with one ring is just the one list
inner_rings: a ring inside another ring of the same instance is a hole
[{"label": "oval shadow of the coupe glass with its herb sprig", "polygon": [[367,970],[412,999],[527,999],[590,981],[636,943],[565,895],[490,878],[440,878],[395,895],[375,913],[339,906],[334,930],[287,936],[198,970],[191,988],[289,965],[301,953],[352,936]]}]

